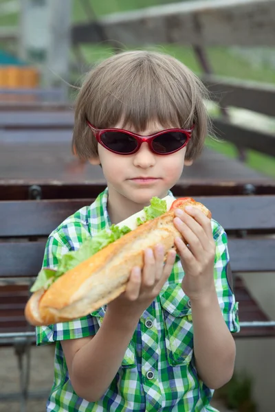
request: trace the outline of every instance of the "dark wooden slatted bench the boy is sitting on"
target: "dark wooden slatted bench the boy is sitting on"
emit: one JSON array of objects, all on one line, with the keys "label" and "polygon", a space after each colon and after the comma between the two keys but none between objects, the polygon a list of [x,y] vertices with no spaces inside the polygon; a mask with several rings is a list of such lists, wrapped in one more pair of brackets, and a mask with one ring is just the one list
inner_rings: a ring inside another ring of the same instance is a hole
[{"label": "dark wooden slatted bench the boy is sitting on", "polygon": [[[18,356],[21,402],[29,395],[30,347],[34,343],[34,328],[28,325],[23,314],[30,285],[41,268],[49,233],[74,211],[94,201],[102,190],[97,185],[90,186],[89,190],[85,187],[90,198],[0,201],[0,344],[14,345]],[[182,195],[180,185],[174,192]],[[213,218],[227,231],[234,274],[275,271],[275,193],[253,196],[197,194],[195,198],[211,209]],[[234,337],[275,336],[275,323],[268,323],[267,315],[239,277],[234,279],[234,293],[239,301],[241,324],[245,325]],[[251,321],[267,324],[260,323],[261,328],[259,324],[246,325]]]}]

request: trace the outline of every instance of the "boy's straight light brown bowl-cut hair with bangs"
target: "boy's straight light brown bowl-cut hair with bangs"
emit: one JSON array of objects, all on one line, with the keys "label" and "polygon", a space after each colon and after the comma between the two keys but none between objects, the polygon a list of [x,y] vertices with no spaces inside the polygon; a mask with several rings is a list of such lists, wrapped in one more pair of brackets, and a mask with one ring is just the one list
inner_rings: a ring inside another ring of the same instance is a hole
[{"label": "boy's straight light brown bowl-cut hair with bangs", "polygon": [[186,159],[201,153],[210,129],[208,93],[188,67],[159,52],[123,52],[100,62],[86,76],[76,98],[72,147],[80,159],[98,155],[98,142],[86,118],[96,128],[133,128],[136,133],[157,121],[164,128],[190,128]]}]

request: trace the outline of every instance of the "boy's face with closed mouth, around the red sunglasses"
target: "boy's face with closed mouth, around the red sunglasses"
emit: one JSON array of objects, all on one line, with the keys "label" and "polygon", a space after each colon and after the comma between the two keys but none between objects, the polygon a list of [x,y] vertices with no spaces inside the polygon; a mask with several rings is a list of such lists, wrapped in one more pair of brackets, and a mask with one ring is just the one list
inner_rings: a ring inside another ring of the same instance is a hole
[{"label": "boy's face with closed mouth, around the red sunglasses", "polygon": [[[115,124],[114,127],[122,128],[122,124]],[[132,128],[126,130],[137,133]],[[140,134],[148,136],[160,130],[164,127],[154,122]],[[98,158],[91,159],[90,163],[101,163],[109,196],[123,196],[138,205],[148,205],[153,196],[166,196],[179,180],[184,165],[192,164],[192,161],[185,160],[185,154],[186,147],[170,155],[155,155],[147,143],[142,143],[140,150],[133,155],[116,155],[98,144]]]}]

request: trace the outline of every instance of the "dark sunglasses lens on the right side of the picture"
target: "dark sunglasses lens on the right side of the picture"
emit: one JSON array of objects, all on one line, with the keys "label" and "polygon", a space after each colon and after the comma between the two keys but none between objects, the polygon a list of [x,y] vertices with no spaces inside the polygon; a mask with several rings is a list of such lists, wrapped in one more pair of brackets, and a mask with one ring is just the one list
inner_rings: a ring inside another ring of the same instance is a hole
[{"label": "dark sunglasses lens on the right side of the picture", "polygon": [[182,132],[163,133],[153,139],[153,150],[159,154],[175,152],[186,144],[187,136]]}]

